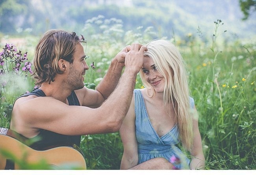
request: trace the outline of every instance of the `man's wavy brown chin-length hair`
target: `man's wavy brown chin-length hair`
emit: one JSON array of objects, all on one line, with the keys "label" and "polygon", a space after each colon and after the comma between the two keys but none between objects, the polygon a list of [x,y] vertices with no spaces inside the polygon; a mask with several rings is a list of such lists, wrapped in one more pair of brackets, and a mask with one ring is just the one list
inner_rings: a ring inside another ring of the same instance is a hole
[{"label": "man's wavy brown chin-length hair", "polygon": [[59,29],[47,31],[35,49],[33,60],[35,84],[54,82],[56,74],[63,71],[58,66],[59,59],[72,63],[76,44],[80,42],[76,33],[69,33]]}]

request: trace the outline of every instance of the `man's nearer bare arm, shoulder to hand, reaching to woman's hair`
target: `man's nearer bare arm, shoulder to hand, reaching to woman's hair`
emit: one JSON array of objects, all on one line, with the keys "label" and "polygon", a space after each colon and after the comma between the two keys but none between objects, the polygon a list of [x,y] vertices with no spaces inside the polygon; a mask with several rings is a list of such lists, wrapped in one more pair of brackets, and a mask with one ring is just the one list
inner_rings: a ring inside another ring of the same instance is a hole
[{"label": "man's nearer bare arm, shoulder to hand, reaching to woman's hair", "polygon": [[68,106],[52,97],[36,97],[30,100],[22,97],[15,103],[13,117],[19,118],[17,121],[22,120],[21,128],[28,128],[28,131],[41,128],[65,135],[118,131],[130,106],[135,78],[143,64],[146,48],[139,48],[139,45],[133,45],[131,52],[127,53],[126,68],[117,88],[99,108]]}]

